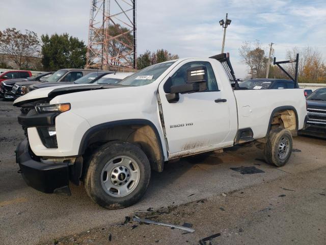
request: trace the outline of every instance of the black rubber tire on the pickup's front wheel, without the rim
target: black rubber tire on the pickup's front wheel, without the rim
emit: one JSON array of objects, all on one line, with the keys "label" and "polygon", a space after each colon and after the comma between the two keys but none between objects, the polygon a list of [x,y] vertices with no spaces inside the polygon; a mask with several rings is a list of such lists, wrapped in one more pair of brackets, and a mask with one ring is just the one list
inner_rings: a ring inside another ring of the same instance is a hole
[{"label": "black rubber tire on the pickup's front wheel, without the rim", "polygon": [[[138,185],[125,197],[112,197],[102,187],[102,170],[111,159],[127,156],[134,159],[140,169]],[[146,192],[151,177],[151,167],[145,153],[132,143],[112,141],[102,145],[89,161],[84,186],[89,197],[107,209],[125,208],[137,203]]]}]

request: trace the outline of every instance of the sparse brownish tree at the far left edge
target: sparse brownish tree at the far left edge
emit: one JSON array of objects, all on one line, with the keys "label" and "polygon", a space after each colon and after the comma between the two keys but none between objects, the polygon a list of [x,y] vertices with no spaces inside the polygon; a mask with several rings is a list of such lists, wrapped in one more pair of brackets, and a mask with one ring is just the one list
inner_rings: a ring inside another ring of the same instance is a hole
[{"label": "sparse brownish tree at the far left edge", "polygon": [[35,32],[25,30],[25,33],[16,28],[7,28],[0,31],[0,53],[9,55],[19,69],[28,68],[31,57],[38,56],[40,41]]}]

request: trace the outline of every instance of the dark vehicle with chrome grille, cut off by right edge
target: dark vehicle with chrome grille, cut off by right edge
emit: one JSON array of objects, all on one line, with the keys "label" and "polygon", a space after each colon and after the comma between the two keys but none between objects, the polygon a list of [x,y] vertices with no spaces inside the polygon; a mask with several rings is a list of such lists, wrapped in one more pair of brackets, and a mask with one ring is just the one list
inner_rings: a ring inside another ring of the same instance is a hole
[{"label": "dark vehicle with chrome grille, cut off by right edge", "polygon": [[301,134],[326,138],[326,88],[316,89],[307,97],[308,120]]}]

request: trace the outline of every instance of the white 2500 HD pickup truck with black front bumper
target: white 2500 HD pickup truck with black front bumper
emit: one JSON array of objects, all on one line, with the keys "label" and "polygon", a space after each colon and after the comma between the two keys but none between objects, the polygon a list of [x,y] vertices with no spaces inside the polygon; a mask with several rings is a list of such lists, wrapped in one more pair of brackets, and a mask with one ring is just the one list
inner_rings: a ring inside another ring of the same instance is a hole
[{"label": "white 2500 HD pickup truck with black front bumper", "polygon": [[254,141],[283,166],[307,115],[303,89],[239,89],[226,54],[159,63],[116,85],[37,89],[14,105],[26,183],[69,194],[69,181],[83,182],[110,209],[138,202],[171,159]]}]

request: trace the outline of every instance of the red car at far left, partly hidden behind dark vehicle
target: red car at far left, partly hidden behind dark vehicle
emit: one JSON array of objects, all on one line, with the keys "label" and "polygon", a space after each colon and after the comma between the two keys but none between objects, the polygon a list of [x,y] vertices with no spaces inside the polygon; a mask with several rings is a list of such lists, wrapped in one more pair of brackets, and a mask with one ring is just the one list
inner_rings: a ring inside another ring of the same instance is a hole
[{"label": "red car at far left, partly hidden behind dark vehicle", "polygon": [[5,92],[12,89],[13,85],[11,85],[10,80],[29,77],[32,77],[32,73],[29,70],[8,70],[0,74],[0,97],[4,97]]}]

